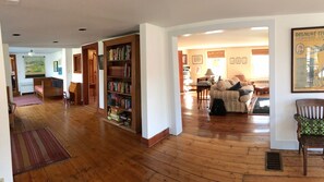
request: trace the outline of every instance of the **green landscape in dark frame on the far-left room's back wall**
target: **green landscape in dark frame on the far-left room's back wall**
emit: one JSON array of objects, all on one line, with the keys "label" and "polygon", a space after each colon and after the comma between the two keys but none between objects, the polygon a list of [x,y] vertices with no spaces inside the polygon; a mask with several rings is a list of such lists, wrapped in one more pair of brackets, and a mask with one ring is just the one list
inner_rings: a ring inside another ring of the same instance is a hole
[{"label": "green landscape in dark frame on the far-left room's back wall", "polygon": [[45,57],[34,56],[27,57],[24,56],[25,63],[25,77],[45,77]]}]

